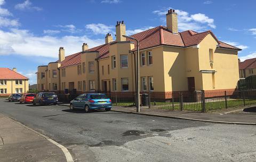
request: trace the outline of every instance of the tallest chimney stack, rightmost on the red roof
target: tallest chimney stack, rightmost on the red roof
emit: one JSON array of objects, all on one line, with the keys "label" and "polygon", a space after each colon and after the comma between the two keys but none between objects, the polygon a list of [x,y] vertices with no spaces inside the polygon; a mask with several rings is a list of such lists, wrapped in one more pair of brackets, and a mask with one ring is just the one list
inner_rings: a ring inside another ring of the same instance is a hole
[{"label": "tallest chimney stack, rightmost on the red roof", "polygon": [[172,33],[178,33],[178,15],[173,9],[166,14],[166,26]]}]

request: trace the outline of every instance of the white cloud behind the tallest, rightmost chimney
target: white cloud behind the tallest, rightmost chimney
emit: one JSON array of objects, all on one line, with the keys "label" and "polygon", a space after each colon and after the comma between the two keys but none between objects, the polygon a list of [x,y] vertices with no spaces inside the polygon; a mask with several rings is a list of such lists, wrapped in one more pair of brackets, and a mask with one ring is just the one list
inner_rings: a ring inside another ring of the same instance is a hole
[{"label": "white cloud behind the tallest, rightmost chimney", "polygon": [[[154,14],[161,16],[161,20],[166,22],[165,14],[172,7],[167,7],[162,10],[153,11]],[[214,19],[207,17],[203,13],[189,14],[186,11],[175,10],[178,14],[178,28],[179,30],[195,30],[195,31],[203,31],[207,28],[215,29]],[[164,17],[163,17],[164,16]]]}]

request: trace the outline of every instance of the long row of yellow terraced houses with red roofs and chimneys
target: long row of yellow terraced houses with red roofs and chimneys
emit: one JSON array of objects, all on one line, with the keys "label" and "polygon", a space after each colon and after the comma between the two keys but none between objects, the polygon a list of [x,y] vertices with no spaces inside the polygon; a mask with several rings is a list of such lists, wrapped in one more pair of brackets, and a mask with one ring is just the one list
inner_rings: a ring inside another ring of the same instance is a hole
[{"label": "long row of yellow terraced houses with red roofs and chimneys", "polygon": [[[125,35],[124,21],[116,23],[116,40],[106,34],[105,44],[38,66],[39,91],[135,92],[137,43]],[[241,49],[218,40],[212,31],[178,31],[177,13],[169,10],[166,27],[132,35],[139,40],[141,91],[178,92],[235,90]]]}]

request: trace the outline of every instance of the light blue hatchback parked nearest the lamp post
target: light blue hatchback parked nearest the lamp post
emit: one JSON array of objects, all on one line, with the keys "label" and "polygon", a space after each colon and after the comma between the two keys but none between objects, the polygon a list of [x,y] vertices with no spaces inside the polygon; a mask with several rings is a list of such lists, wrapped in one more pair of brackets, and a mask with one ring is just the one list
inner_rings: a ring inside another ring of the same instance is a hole
[{"label": "light blue hatchback parked nearest the lamp post", "polygon": [[84,109],[85,112],[89,112],[89,110],[92,109],[105,109],[106,111],[110,111],[111,107],[111,100],[107,98],[106,94],[102,93],[81,94],[70,101],[70,110],[79,108]]}]

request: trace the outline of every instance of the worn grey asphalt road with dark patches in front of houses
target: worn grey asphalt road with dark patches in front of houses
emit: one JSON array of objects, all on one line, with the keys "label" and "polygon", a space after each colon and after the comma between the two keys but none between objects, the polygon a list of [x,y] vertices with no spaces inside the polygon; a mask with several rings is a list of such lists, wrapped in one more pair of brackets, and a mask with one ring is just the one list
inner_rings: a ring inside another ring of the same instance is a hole
[{"label": "worn grey asphalt road with dark patches in front of houses", "polygon": [[75,161],[256,161],[256,127],[0,99],[0,113],[65,145]]}]

